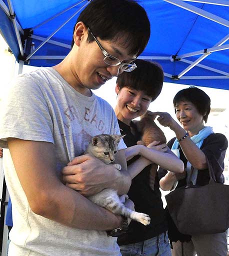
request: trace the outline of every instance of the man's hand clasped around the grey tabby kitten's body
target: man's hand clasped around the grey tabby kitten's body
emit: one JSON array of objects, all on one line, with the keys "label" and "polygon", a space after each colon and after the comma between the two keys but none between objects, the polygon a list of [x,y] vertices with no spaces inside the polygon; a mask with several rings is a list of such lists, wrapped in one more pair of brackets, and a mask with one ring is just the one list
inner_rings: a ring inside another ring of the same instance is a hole
[{"label": "man's hand clasped around the grey tabby kitten's body", "polygon": [[62,180],[66,186],[83,195],[95,194],[109,187],[119,177],[120,172],[111,164],[84,154],[75,157],[62,169]]}]

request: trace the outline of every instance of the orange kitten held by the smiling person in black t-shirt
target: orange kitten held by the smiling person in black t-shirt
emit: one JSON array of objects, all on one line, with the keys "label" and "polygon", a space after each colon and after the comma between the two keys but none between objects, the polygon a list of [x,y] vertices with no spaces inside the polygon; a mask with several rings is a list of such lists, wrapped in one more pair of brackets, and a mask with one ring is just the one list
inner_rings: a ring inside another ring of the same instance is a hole
[{"label": "orange kitten held by the smiling person in black t-shirt", "polygon": [[[160,141],[159,144],[166,143],[166,138],[163,131],[155,124],[154,119],[156,115],[153,115],[149,110],[140,116],[139,121],[134,121],[137,126],[137,130],[141,132],[141,140],[144,145],[147,146],[152,141]],[[154,190],[154,182],[158,165],[155,163],[151,164],[149,170],[149,186]]]}]

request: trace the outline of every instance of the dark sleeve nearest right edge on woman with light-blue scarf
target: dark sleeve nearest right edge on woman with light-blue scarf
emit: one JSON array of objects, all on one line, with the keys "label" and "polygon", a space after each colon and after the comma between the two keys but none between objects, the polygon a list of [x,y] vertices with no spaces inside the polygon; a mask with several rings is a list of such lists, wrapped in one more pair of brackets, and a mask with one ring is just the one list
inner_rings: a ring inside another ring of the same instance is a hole
[{"label": "dark sleeve nearest right edge on woman with light-blue scarf", "polygon": [[[217,182],[224,181],[222,172],[224,170],[224,157],[228,146],[226,137],[221,133],[210,134],[203,142],[201,150],[211,164]],[[201,171],[199,171],[201,175]]]}]

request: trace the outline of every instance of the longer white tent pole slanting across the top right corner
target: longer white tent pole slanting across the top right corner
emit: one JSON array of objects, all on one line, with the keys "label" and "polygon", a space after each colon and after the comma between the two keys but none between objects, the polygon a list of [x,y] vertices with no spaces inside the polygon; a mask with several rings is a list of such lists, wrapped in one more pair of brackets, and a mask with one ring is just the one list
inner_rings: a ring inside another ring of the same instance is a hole
[{"label": "longer white tent pole slanting across the top right corner", "polygon": [[209,13],[208,11],[205,11],[203,9],[197,8],[197,7],[195,7],[191,4],[188,4],[186,2],[182,2],[181,0],[163,0],[163,1],[169,2],[171,4],[174,4],[174,5],[178,6],[178,7],[189,10],[191,12],[194,12],[195,14],[198,14],[198,15],[203,16],[205,18],[208,18],[212,21],[215,21],[215,22],[217,22],[221,25],[229,27],[229,21],[228,20],[226,20],[224,18],[221,18],[217,15],[214,15],[212,13]]}]

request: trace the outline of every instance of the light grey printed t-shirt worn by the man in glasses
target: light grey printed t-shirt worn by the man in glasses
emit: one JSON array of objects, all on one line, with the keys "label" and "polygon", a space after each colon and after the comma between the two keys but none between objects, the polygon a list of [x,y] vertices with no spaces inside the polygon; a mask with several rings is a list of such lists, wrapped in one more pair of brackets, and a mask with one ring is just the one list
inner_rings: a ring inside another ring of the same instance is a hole
[{"label": "light grey printed t-shirt worn by the man in glasses", "polygon": [[[7,137],[54,143],[57,172],[101,133],[120,134],[111,106],[93,93],[75,91],[51,67],[17,77],[1,111],[0,146],[7,147]],[[119,149],[125,147],[121,140]],[[120,255],[116,238],[105,231],[70,228],[34,214],[8,150],[3,162],[13,213],[10,256]]]}]

